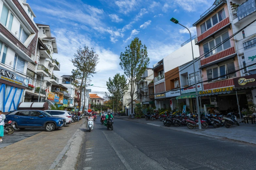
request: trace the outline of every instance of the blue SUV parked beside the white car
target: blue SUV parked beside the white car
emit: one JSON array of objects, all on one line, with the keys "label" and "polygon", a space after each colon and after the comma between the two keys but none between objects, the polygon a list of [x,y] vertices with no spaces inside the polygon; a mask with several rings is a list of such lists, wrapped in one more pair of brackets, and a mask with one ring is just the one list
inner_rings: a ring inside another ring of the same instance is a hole
[{"label": "blue SUV parked beside the white car", "polygon": [[45,128],[47,132],[66,125],[66,119],[54,117],[42,110],[16,110],[6,115],[5,122],[12,120],[16,128]]}]

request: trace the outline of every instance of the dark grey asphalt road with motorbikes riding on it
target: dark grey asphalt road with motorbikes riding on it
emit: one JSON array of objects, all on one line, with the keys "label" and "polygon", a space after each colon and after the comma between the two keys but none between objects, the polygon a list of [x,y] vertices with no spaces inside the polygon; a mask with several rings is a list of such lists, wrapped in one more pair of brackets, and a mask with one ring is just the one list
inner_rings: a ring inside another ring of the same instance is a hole
[{"label": "dark grey asphalt road with motorbikes riding on it", "polygon": [[[256,147],[114,119],[107,130],[99,117],[83,139],[77,170],[253,170]],[[238,134],[239,135],[239,134]]]}]

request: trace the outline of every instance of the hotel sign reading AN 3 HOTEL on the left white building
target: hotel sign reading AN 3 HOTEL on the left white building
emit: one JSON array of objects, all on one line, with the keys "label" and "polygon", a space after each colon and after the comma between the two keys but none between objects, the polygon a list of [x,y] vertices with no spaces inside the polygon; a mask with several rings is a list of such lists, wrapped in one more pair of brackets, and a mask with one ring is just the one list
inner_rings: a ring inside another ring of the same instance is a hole
[{"label": "hotel sign reading AN 3 HOTEL on the left white building", "polygon": [[0,78],[21,86],[28,86],[28,80],[25,77],[6,70],[3,67],[0,67]]}]

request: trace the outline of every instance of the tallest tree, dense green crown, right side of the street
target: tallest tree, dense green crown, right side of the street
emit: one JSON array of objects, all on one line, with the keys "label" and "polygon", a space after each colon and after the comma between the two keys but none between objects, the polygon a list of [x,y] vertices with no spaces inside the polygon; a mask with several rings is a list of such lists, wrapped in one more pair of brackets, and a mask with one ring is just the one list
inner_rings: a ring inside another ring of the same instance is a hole
[{"label": "tallest tree, dense green crown, right side of the street", "polygon": [[124,70],[131,85],[131,112],[133,113],[133,96],[136,82],[141,78],[149,64],[149,57],[147,56],[147,48],[142,45],[139,38],[134,38],[131,44],[126,47],[125,52],[120,54],[120,66]]}]

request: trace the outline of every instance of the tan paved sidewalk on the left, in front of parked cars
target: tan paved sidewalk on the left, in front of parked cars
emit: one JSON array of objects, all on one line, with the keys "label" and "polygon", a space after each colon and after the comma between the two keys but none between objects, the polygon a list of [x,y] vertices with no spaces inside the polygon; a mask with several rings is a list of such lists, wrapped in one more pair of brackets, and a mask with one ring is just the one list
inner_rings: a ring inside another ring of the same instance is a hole
[{"label": "tan paved sidewalk on the left, in front of parked cars", "polygon": [[85,119],[82,119],[53,132],[43,131],[0,149],[0,170],[49,169],[84,121]]}]

